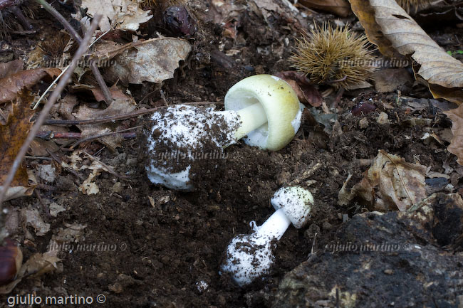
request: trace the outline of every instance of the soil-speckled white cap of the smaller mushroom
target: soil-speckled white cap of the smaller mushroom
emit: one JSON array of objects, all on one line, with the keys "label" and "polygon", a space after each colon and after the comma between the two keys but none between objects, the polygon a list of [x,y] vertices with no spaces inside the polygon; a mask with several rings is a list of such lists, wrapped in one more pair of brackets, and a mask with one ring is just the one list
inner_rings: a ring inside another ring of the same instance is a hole
[{"label": "soil-speckled white cap of the smaller mushroom", "polygon": [[274,193],[270,202],[275,210],[283,209],[295,228],[302,228],[310,216],[313,196],[301,186],[283,187]]}]

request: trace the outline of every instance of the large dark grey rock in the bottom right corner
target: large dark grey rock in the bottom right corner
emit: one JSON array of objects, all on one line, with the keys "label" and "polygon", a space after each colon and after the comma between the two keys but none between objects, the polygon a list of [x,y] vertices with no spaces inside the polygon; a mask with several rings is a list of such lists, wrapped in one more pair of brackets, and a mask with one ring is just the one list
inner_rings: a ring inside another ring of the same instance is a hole
[{"label": "large dark grey rock in the bottom right corner", "polygon": [[286,275],[272,307],[461,307],[462,198],[436,193],[417,208],[353,216]]}]

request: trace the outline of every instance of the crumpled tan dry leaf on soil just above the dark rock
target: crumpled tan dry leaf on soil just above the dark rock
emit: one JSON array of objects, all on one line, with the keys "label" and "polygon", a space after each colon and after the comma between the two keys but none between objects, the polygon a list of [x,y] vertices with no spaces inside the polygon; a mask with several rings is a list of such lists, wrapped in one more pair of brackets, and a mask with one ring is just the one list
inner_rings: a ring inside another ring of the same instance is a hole
[{"label": "crumpled tan dry leaf on soil just above the dark rock", "polygon": [[338,203],[347,205],[354,198],[360,198],[377,211],[408,208],[426,198],[426,167],[410,164],[400,156],[380,150],[363,179],[348,189],[348,181],[338,194]]}]

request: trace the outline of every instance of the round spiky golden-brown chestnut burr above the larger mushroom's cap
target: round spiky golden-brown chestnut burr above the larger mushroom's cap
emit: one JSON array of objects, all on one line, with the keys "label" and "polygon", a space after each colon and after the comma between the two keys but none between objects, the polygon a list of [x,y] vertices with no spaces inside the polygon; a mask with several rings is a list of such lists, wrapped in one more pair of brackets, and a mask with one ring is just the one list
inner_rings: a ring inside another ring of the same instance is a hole
[{"label": "round spiky golden-brown chestnut burr above the larger mushroom's cap", "polygon": [[348,26],[332,28],[328,23],[315,26],[310,36],[298,39],[289,61],[315,83],[352,89],[371,78],[375,56],[368,49],[366,36]]}]

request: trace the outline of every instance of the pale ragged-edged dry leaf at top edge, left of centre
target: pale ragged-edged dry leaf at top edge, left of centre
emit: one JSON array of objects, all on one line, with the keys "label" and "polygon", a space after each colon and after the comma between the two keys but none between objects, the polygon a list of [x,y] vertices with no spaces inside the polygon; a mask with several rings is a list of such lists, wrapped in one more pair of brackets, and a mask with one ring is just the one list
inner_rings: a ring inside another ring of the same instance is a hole
[{"label": "pale ragged-edged dry leaf at top edge, left of centre", "polygon": [[103,32],[114,28],[137,31],[140,23],[152,18],[150,11],[141,9],[136,0],[83,0],[81,7],[91,17],[103,15],[99,24]]}]

